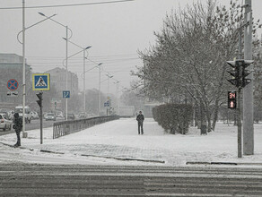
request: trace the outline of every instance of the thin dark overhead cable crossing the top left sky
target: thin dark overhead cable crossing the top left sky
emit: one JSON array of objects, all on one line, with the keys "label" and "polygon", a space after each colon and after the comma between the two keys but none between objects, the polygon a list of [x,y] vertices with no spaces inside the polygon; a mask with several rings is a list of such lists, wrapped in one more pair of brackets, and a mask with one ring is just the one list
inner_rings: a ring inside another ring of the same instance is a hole
[{"label": "thin dark overhead cable crossing the top left sky", "polygon": [[[93,3],[85,3],[85,4],[53,4],[53,5],[36,5],[36,6],[28,6],[25,8],[48,8],[48,7],[71,7],[71,6],[83,6],[83,5],[92,5],[92,4],[116,4],[123,2],[131,2],[135,0],[118,0],[118,1],[107,1],[107,2],[93,2]],[[0,7],[0,10],[15,10],[22,9],[22,7]]]}]

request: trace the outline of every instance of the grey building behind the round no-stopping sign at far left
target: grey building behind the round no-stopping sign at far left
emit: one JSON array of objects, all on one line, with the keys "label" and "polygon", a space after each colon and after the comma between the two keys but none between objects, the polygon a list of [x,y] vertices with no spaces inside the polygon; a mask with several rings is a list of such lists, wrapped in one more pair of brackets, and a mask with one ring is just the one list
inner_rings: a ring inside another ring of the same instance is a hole
[{"label": "grey building behind the round no-stopping sign at far left", "polygon": [[[31,66],[25,64],[26,92],[31,90]],[[18,81],[18,97],[7,96],[7,81]],[[22,56],[16,54],[0,54],[0,108],[22,104]]]}]

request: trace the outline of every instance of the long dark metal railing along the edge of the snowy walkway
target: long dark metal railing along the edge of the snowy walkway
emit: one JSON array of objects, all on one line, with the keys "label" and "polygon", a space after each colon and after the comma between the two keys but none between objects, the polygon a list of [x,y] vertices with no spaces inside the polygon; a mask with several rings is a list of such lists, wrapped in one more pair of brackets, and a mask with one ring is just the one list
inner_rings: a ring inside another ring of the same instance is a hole
[{"label": "long dark metal railing along the edge of the snowy walkway", "polygon": [[83,129],[92,127],[96,124],[102,124],[117,119],[119,119],[119,116],[97,116],[86,119],[57,122],[53,125],[53,139],[82,131]]}]

